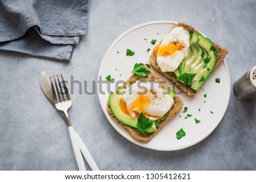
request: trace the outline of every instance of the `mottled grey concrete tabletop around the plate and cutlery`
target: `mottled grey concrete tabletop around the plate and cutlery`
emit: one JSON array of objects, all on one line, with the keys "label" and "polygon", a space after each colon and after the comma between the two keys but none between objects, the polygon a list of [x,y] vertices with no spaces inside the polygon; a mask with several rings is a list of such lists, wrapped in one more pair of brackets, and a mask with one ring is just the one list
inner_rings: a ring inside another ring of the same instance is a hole
[{"label": "mottled grey concrete tabletop around the plate and cutlery", "polygon": [[[90,1],[88,32],[71,62],[0,52],[0,170],[77,170],[67,126],[41,91],[43,70],[92,83],[121,33],[139,23],[173,20],[192,24],[229,50],[233,85],[256,65],[255,10],[255,1]],[[72,123],[100,170],[256,170],[256,104],[237,100],[233,92],[207,139],[172,152],[127,141],[109,124],[97,95],[76,93],[72,101]]]}]

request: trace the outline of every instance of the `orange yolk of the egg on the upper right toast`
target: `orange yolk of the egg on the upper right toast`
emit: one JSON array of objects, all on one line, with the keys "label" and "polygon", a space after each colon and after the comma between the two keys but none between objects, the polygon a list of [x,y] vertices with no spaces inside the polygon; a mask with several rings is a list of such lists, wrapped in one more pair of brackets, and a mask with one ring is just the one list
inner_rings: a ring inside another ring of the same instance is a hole
[{"label": "orange yolk of the egg on the upper right toast", "polygon": [[158,49],[157,56],[172,56],[176,50],[181,50],[184,48],[183,43],[170,42],[167,45],[161,45]]}]

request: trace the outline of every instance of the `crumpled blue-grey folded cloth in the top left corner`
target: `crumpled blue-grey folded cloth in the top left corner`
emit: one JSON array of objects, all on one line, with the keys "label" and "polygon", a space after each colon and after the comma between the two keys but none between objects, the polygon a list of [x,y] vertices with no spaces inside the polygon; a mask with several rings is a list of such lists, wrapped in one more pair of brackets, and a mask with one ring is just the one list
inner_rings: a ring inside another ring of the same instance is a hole
[{"label": "crumpled blue-grey folded cloth in the top left corner", "polygon": [[68,61],[85,35],[88,0],[0,1],[0,50]]}]

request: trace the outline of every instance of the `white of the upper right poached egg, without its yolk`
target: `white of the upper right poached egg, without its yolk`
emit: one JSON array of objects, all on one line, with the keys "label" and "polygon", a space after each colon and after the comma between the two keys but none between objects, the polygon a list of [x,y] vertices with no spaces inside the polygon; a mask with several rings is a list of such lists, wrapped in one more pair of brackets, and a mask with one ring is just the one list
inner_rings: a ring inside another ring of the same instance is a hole
[{"label": "white of the upper right poached egg, without its yolk", "polygon": [[156,57],[156,62],[163,72],[175,71],[184,58],[188,55],[189,32],[183,27],[175,27],[164,37],[159,49],[161,46],[168,45],[171,42],[183,43],[184,48],[181,50],[176,50],[172,55]]}]

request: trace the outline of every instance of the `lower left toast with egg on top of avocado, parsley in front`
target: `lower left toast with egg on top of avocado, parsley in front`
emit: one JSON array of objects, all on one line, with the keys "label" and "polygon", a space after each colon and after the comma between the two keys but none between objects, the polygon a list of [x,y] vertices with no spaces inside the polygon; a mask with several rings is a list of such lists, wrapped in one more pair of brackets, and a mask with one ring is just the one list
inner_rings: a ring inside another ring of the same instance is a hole
[{"label": "lower left toast with egg on top of avocado, parsley in front", "polygon": [[117,92],[111,92],[107,108],[131,136],[146,142],[180,111],[183,101],[147,66],[135,64],[133,73]]}]

